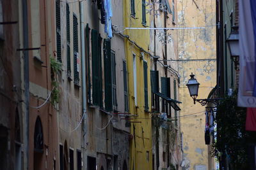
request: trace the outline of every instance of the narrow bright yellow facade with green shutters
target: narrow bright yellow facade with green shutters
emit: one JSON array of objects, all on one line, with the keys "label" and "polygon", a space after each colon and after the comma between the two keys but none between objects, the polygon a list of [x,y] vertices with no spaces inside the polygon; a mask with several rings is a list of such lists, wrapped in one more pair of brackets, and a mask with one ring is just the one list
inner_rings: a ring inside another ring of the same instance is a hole
[{"label": "narrow bright yellow facade with green shutters", "polygon": [[[131,1],[124,0],[125,27],[146,27],[142,23],[143,1],[134,0],[135,15],[131,15]],[[145,11],[146,21],[149,15]],[[151,128],[151,88],[150,88],[150,55],[149,31],[127,29],[125,38],[125,55],[128,71],[129,113],[136,115],[131,119],[130,169],[152,169],[152,128]],[[144,63],[147,62],[148,111],[145,111]]]}]

